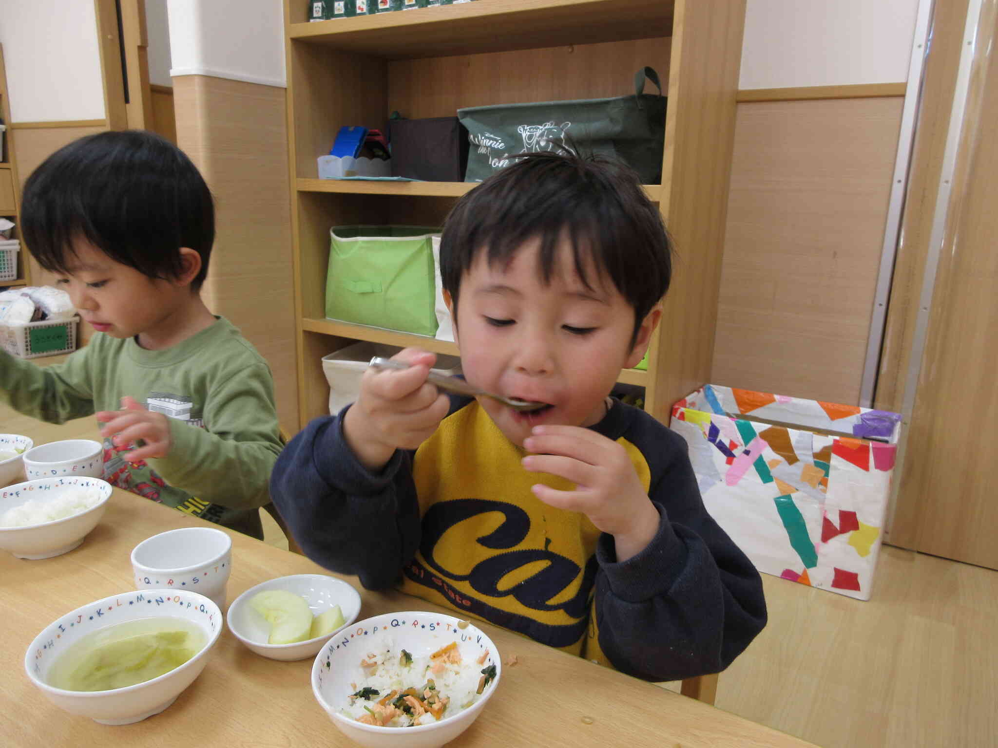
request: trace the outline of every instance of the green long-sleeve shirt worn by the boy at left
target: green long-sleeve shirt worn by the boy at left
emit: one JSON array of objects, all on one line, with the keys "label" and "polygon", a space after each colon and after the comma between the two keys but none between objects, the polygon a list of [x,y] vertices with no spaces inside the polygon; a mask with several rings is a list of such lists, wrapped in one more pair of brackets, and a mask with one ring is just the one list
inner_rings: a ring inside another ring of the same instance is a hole
[{"label": "green long-sleeve shirt worn by the boy at left", "polygon": [[169,417],[163,458],[127,462],[134,445],[104,440],[104,479],[188,514],[262,538],[258,508],[280,452],[266,361],[228,320],[164,350],[97,333],[61,364],[0,352],[0,397],[50,423],[119,410],[131,395]]}]

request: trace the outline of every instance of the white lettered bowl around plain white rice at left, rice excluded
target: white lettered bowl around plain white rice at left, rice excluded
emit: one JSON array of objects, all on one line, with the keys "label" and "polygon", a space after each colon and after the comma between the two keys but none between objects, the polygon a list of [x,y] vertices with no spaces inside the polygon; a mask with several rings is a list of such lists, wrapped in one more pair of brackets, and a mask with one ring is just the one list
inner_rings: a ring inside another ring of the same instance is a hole
[{"label": "white lettered bowl around plain white rice at left, rice excluded", "polygon": [[0,515],[30,501],[49,502],[73,489],[97,489],[100,501],[93,507],[62,520],[18,528],[0,528],[0,549],[18,559],[51,559],[67,554],[81,543],[104,517],[111,498],[111,484],[100,478],[43,478],[0,489]]}]

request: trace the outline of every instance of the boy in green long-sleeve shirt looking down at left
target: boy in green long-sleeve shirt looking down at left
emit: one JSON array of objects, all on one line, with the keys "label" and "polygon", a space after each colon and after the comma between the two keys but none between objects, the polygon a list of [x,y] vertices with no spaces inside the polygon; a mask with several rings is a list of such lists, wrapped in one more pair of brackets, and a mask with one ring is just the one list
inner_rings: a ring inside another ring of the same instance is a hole
[{"label": "boy in green long-sleeve shirt looking down at left", "polygon": [[194,164],[148,132],[83,138],[28,178],[21,228],[97,334],[46,368],[0,353],[0,396],[50,423],[96,413],[106,481],[262,538],[273,381],[201,298],[215,208]]}]

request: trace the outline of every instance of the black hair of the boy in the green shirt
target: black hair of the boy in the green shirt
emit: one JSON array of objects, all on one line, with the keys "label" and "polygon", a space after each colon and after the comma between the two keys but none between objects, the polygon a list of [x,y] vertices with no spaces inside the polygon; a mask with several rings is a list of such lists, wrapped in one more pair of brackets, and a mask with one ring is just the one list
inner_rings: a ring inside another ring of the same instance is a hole
[{"label": "black hair of the boy in the green shirt", "polygon": [[146,131],[99,133],[52,154],[22,195],[21,231],[51,272],[72,265],[86,240],[151,278],[181,274],[180,248],[201,254],[192,289],[208,274],[215,241],[212,193],[176,146]]}]

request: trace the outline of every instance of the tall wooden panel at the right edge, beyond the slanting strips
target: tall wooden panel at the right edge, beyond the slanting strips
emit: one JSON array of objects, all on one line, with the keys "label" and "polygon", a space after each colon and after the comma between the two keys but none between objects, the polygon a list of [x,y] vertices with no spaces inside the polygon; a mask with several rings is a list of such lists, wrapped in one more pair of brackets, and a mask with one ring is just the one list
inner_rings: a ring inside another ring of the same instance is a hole
[{"label": "tall wooden panel at the right edge, beyond the slanting strips", "polygon": [[[981,48],[998,36],[982,12]],[[946,235],[904,450],[897,519],[915,550],[998,568],[998,504],[991,460],[998,441],[998,60],[971,76]],[[980,106],[975,93],[983,86]],[[976,136],[974,135],[976,133]],[[892,532],[892,536],[893,536]]]}]

